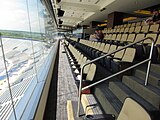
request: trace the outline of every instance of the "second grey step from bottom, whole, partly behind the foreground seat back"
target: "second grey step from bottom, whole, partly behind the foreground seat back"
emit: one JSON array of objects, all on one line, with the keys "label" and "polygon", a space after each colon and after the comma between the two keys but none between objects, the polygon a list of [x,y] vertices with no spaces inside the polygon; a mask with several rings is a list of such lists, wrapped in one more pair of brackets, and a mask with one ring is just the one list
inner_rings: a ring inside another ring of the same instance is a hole
[{"label": "second grey step from bottom, whole, partly behind the foreground seat back", "polygon": [[127,97],[131,97],[134,100],[136,100],[138,103],[143,105],[148,111],[157,110],[157,108],[155,108],[152,104],[147,102],[145,99],[143,99],[141,96],[139,96],[137,93],[135,93],[133,90],[131,90],[122,82],[110,82],[109,88],[122,103]]}]

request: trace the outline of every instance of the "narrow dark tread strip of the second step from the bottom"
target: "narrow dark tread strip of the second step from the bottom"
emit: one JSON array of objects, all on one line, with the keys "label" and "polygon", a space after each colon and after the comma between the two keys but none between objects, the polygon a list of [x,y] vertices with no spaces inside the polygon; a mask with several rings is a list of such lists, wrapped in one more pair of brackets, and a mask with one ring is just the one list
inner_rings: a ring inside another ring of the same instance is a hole
[{"label": "narrow dark tread strip of the second step from the bottom", "polygon": [[149,111],[157,110],[152,104],[150,104],[149,102],[147,102],[144,98],[142,98],[141,96],[139,96],[137,93],[135,93],[133,90],[131,90],[124,83],[122,83],[122,82],[114,82],[114,83],[119,88],[121,88],[129,97],[131,97],[131,98],[135,99],[136,101],[138,101],[138,103],[140,103],[141,105],[143,105],[147,110],[149,110]]}]

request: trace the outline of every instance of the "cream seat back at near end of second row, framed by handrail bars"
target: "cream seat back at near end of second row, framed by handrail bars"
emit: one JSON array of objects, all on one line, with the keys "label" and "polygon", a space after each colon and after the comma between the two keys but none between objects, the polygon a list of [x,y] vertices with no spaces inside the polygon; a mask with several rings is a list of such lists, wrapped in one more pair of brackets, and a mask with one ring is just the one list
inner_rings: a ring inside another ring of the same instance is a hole
[{"label": "cream seat back at near end of second row, framed by handrail bars", "polygon": [[126,48],[122,61],[132,63],[135,58],[135,54],[136,54],[135,48]]}]

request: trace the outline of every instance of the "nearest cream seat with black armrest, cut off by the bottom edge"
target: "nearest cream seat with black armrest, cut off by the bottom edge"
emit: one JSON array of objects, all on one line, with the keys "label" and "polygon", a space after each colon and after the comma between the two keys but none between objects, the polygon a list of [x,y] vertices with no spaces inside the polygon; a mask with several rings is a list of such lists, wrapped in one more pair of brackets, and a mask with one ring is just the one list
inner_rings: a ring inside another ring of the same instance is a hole
[{"label": "nearest cream seat with black armrest, cut off by the bottom edge", "polygon": [[[115,120],[115,116],[112,114],[87,114],[85,120],[96,120],[100,118],[101,120]],[[126,98],[122,109],[116,120],[152,120],[149,113],[132,98]]]}]

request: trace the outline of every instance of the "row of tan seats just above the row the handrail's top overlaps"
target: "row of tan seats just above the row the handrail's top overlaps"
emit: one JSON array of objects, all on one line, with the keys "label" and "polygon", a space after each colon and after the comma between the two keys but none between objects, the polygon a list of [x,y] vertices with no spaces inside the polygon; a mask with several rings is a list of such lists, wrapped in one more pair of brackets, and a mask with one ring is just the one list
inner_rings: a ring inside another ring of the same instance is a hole
[{"label": "row of tan seats just above the row the handrail's top overlaps", "polygon": [[154,25],[143,25],[143,26],[132,26],[132,27],[122,27],[122,28],[114,28],[114,29],[105,29],[104,33],[148,33],[148,32],[159,32],[160,27],[159,24]]}]

